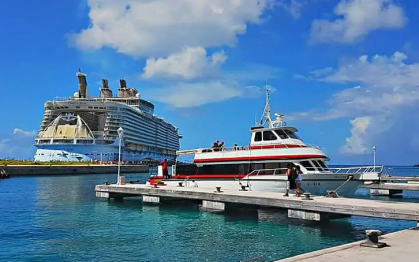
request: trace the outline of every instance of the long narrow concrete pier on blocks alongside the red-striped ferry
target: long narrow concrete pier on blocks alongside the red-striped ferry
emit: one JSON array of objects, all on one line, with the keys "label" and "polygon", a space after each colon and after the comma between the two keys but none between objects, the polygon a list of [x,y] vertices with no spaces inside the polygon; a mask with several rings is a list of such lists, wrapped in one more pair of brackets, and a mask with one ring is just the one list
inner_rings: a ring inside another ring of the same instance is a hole
[{"label": "long narrow concrete pier on blocks alongside the red-striped ferry", "polygon": [[122,200],[124,197],[143,196],[144,202],[159,203],[160,198],[202,201],[209,209],[224,210],[228,204],[288,209],[289,217],[320,221],[330,215],[367,216],[419,221],[419,203],[400,203],[379,200],[326,198],[312,196],[311,200],[283,197],[282,193],[264,191],[227,190],[221,188],[169,187],[154,188],[144,184],[96,185],[96,197]]}]

